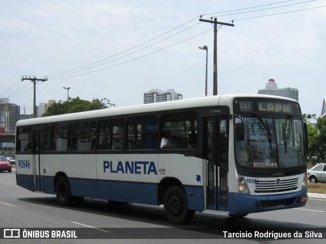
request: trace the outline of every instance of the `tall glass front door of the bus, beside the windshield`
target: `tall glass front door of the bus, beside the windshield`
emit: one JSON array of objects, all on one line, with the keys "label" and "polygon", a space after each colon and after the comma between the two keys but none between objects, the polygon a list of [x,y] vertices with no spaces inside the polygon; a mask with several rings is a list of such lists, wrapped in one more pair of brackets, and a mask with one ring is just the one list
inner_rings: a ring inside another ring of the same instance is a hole
[{"label": "tall glass front door of the bus, beside the windshield", "polygon": [[228,206],[228,117],[205,119],[206,207]]}]

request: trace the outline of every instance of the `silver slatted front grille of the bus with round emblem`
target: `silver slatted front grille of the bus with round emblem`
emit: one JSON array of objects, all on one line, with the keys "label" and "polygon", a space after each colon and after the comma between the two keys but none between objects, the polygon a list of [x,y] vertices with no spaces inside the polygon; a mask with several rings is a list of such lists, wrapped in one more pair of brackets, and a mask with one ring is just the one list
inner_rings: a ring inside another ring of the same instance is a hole
[{"label": "silver slatted front grille of the bus with round emblem", "polygon": [[299,178],[259,180],[255,183],[255,193],[277,193],[296,190]]}]

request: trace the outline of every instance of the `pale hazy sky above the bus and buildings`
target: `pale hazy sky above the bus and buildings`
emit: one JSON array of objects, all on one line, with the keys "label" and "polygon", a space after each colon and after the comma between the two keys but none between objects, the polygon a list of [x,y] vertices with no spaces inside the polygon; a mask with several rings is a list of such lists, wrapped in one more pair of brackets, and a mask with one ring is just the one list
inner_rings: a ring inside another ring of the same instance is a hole
[{"label": "pale hazy sky above the bus and buildings", "polygon": [[183,99],[213,95],[217,18],[218,95],[257,94],[270,78],[299,92],[320,116],[326,88],[326,1],[0,0],[0,97],[33,113],[48,100],[143,103],[150,89]]}]

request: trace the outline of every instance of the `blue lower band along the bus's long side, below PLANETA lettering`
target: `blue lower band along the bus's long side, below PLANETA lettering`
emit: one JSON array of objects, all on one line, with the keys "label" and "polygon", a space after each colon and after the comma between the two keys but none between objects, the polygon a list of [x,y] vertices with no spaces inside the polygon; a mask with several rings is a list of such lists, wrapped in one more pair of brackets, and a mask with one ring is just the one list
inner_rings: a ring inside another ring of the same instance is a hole
[{"label": "blue lower band along the bus's long side, below PLANETA lettering", "polygon": [[[17,174],[20,187],[35,191],[33,175]],[[54,177],[43,178],[44,193],[55,194]],[[158,205],[158,184],[148,184],[127,181],[92,180],[68,178],[71,195],[97,198],[111,201],[132,202],[140,204]],[[204,192],[202,187],[186,186],[188,208],[204,210]],[[188,194],[189,192],[192,193]]]}]

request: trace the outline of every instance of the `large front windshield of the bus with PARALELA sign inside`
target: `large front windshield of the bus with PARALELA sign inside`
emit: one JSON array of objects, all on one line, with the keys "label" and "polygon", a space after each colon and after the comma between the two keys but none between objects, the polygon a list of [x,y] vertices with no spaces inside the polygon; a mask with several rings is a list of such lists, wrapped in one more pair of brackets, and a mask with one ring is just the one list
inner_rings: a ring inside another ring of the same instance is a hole
[{"label": "large front windshield of the bus with PARALELA sign inside", "polygon": [[253,114],[251,117],[236,118],[235,123],[243,123],[244,128],[244,140],[235,138],[236,161],[241,166],[290,168],[305,164],[301,119]]}]

